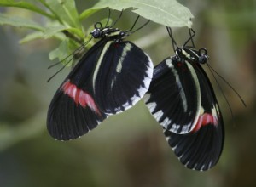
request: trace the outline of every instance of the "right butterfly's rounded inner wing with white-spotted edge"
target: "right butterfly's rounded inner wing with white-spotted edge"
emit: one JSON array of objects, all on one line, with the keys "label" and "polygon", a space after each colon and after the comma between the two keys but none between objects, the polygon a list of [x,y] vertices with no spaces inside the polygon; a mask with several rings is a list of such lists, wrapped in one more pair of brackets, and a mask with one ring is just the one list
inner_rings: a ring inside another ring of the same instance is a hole
[{"label": "right butterfly's rounded inner wing with white-spotted edge", "polygon": [[175,57],[167,58],[154,67],[145,102],[162,127],[183,134],[195,127],[201,106],[200,94],[192,66]]}]

